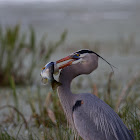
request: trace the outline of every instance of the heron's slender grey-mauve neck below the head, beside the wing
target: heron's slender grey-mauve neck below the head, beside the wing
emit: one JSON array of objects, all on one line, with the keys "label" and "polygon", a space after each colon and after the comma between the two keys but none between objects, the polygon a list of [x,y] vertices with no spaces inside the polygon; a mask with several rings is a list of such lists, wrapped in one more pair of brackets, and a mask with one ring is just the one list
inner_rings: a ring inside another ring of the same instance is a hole
[{"label": "heron's slender grey-mauve neck below the head, beside the wing", "polygon": [[63,69],[59,76],[59,82],[62,84],[58,87],[58,96],[64,112],[67,116],[67,120],[70,124],[73,124],[72,120],[72,107],[74,105],[75,94],[72,94],[70,85],[71,81],[76,77],[74,72],[71,72],[71,68],[67,67]]}]

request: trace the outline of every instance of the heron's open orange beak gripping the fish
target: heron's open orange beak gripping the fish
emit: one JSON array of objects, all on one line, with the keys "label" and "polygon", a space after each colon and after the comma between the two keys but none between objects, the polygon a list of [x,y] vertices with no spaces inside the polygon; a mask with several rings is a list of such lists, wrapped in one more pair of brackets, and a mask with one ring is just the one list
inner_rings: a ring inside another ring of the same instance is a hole
[{"label": "heron's open orange beak gripping the fish", "polygon": [[56,64],[70,60],[67,63],[64,63],[64,64],[62,64],[62,65],[59,66],[59,69],[63,69],[65,67],[67,67],[67,66],[70,66],[74,61],[76,61],[78,59],[80,59],[80,57],[77,56],[77,55],[69,55],[67,57],[64,57],[64,58],[56,61]]}]

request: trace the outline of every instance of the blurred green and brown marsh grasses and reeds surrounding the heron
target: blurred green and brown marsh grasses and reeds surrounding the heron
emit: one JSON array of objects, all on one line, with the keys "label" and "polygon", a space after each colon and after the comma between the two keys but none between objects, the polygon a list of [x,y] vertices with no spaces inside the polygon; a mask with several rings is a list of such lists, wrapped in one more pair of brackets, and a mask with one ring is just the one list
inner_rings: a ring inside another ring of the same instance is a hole
[{"label": "blurred green and brown marsh grasses and reeds surrounding the heron", "polygon": [[[29,33],[20,32],[20,25],[0,28],[0,139],[1,140],[74,140],[74,133],[68,129],[67,121],[56,92],[49,85],[41,85],[36,75],[56,52],[67,54],[81,48],[102,53],[108,46],[118,46],[115,52],[128,56],[134,51],[135,36],[121,37],[118,42],[79,41],[74,47],[65,47],[67,31],[58,41],[46,41],[43,35],[37,41],[36,32],[29,27]],[[112,50],[113,52],[114,50]],[[106,52],[106,51],[105,51]],[[138,67],[140,69],[140,67]],[[117,71],[117,70],[116,70]],[[85,89],[109,104],[131,129],[135,139],[140,139],[140,73],[129,78],[114,79],[113,74],[103,72],[103,77],[94,80],[93,75],[80,76],[72,83],[73,92]],[[122,77],[123,78],[123,77]],[[80,89],[80,90],[79,90]],[[81,139],[80,137],[77,139]]]}]

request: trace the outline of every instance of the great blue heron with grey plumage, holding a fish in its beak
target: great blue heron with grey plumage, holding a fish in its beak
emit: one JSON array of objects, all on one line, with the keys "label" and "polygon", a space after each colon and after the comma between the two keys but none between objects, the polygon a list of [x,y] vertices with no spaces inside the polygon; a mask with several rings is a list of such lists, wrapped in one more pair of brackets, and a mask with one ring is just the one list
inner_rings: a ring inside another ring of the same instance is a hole
[{"label": "great blue heron with grey plumage, holding a fish in its beak", "polygon": [[[84,140],[133,140],[131,132],[109,105],[93,94],[71,92],[71,81],[94,71],[98,67],[98,57],[90,50],[80,50],[56,61],[58,64],[72,59],[59,67],[62,85],[57,89],[67,120]],[[72,64],[74,61],[77,63]]]}]

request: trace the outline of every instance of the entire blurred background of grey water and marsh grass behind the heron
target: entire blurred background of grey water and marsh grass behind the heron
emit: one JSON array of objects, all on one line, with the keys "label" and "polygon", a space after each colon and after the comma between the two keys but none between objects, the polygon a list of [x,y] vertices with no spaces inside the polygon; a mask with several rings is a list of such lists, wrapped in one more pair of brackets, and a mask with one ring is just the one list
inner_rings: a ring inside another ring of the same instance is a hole
[{"label": "entire blurred background of grey water and marsh grass behind the heron", "polygon": [[139,27],[139,0],[0,0],[0,139],[75,139],[40,72],[79,49],[116,68],[99,60],[72,91],[104,100],[140,139]]}]

